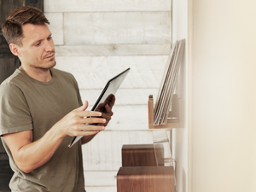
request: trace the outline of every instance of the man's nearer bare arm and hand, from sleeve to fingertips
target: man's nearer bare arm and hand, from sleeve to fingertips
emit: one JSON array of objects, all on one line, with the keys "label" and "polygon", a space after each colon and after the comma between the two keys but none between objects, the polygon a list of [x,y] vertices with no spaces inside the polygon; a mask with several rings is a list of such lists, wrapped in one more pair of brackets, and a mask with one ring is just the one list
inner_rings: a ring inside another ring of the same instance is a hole
[{"label": "man's nearer bare arm and hand, from sleeve to fingertips", "polygon": [[[3,135],[20,170],[28,173],[43,166],[55,154],[66,136],[90,136],[104,130],[105,127],[102,125],[88,125],[104,124],[106,119],[99,118],[102,117],[102,113],[84,111],[87,107],[88,102],[85,102],[82,107],[68,113],[38,141],[32,142],[32,131]],[[96,118],[84,118],[92,116]]]}]

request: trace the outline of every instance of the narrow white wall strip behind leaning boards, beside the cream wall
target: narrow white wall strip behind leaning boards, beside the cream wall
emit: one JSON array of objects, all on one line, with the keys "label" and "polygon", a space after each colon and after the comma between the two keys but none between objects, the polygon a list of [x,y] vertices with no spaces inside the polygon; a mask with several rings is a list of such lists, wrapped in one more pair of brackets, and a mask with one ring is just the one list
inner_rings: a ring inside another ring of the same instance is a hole
[{"label": "narrow white wall strip behind leaning boards, beside the cream wall", "polygon": [[177,96],[184,101],[184,126],[172,131],[178,192],[188,191],[188,3],[186,0],[172,0],[172,41],[182,38],[186,39],[186,48],[178,75]]}]

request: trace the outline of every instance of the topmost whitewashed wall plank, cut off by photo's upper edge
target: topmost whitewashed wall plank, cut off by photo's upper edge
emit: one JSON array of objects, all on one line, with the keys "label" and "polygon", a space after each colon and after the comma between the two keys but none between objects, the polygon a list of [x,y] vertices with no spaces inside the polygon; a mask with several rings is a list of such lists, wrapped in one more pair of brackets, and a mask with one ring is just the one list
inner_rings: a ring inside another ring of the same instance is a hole
[{"label": "topmost whitewashed wall plank, cut off by photo's upper edge", "polygon": [[45,12],[171,11],[171,0],[44,0]]}]

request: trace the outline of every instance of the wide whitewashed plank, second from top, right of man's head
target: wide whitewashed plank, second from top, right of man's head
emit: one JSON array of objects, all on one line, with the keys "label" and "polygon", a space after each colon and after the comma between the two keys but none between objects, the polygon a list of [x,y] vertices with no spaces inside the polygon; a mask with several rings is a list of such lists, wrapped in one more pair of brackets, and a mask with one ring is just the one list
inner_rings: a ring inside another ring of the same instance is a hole
[{"label": "wide whitewashed plank, second from top, right of man's head", "polygon": [[170,44],[170,12],[64,13],[65,44]]}]

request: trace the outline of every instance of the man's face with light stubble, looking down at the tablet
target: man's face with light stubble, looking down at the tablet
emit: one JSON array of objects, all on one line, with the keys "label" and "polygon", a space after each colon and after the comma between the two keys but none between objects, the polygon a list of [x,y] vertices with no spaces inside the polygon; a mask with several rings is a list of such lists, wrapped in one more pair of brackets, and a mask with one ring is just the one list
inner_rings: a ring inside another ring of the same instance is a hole
[{"label": "man's face with light stubble, looking down at the tablet", "polygon": [[55,48],[46,25],[22,26],[24,38],[19,47],[21,66],[39,69],[55,67]]}]

